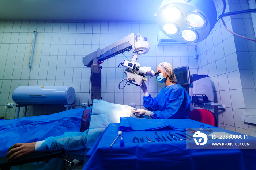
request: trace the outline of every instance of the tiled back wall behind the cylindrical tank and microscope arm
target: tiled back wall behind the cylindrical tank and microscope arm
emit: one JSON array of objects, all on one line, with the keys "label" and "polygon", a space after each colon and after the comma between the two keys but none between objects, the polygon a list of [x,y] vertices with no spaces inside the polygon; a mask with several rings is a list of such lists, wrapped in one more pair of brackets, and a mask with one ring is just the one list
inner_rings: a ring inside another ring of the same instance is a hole
[{"label": "tiled back wall behind the cylindrical tank and microscope arm", "polygon": [[[37,31],[32,68],[28,66],[33,31]],[[82,58],[101,49],[131,32],[146,36],[150,51],[139,56],[141,66],[152,67],[170,62],[173,67],[188,65],[191,74],[198,74],[197,60],[194,59],[195,46],[156,46],[159,28],[156,23],[148,22],[65,22],[65,21],[0,21],[0,116],[10,119],[5,105],[14,103],[12,92],[22,85],[70,85],[75,88],[75,108],[82,103],[91,103],[90,68],[85,67]],[[131,58],[130,52],[125,52]],[[118,89],[119,82],[125,78],[118,68],[123,54],[102,63],[102,99],[117,104],[136,104],[143,108],[142,90],[135,85]],[[152,96],[164,87],[149,78],[146,83]],[[121,85],[122,87],[122,85]],[[16,104],[15,104],[16,105]],[[30,106],[27,116],[56,113],[61,107]],[[16,108],[7,108],[13,118]],[[20,111],[22,116],[23,109]]]}]

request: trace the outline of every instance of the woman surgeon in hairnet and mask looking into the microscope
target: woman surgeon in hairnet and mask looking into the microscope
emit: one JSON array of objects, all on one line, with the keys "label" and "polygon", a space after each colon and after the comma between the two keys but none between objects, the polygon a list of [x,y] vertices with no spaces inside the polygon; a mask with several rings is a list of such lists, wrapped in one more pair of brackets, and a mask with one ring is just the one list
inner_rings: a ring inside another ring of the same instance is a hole
[{"label": "woman surgeon in hairnet and mask looking into the microscope", "polygon": [[136,109],[133,113],[138,117],[146,115],[153,119],[189,119],[191,97],[182,86],[177,84],[172,65],[167,62],[160,63],[157,66],[157,72],[159,73],[156,76],[157,81],[165,83],[166,87],[152,98],[143,82],[140,86],[144,92],[143,106],[148,110]]}]

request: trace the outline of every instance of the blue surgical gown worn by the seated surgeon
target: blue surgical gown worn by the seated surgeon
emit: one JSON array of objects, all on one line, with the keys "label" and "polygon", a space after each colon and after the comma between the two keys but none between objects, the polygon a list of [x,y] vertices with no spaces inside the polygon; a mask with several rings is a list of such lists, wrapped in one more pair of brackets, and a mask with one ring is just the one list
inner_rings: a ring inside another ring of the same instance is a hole
[{"label": "blue surgical gown worn by the seated surgeon", "polygon": [[153,99],[143,97],[143,106],[154,113],[153,119],[189,119],[191,97],[179,84],[161,89]]}]

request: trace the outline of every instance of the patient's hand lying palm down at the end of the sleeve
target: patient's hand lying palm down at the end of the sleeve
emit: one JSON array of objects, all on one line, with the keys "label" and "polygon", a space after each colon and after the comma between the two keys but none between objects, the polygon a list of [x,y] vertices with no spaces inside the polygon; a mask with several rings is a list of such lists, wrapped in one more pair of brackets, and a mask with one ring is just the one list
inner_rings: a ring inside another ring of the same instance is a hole
[{"label": "patient's hand lying palm down at the end of the sleeve", "polygon": [[17,159],[23,155],[27,155],[35,152],[35,143],[16,143],[11,146],[8,150],[9,152],[5,155],[5,157],[9,157],[8,161]]}]

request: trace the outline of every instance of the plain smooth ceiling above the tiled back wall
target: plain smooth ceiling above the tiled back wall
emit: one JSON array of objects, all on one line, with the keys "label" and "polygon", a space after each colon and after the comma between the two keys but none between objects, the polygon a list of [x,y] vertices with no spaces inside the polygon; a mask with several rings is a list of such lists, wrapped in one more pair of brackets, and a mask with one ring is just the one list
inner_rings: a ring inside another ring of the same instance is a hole
[{"label": "plain smooth ceiling above the tiled back wall", "polygon": [[155,22],[162,0],[0,0],[0,20]]}]

